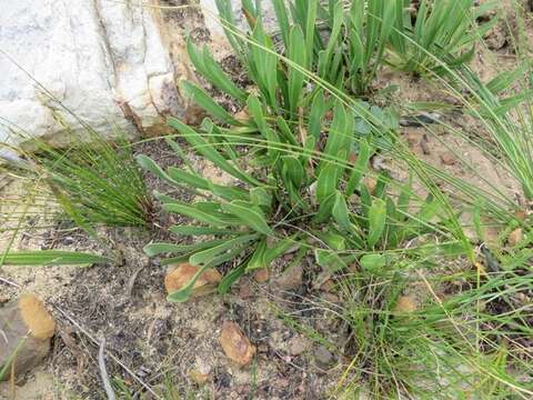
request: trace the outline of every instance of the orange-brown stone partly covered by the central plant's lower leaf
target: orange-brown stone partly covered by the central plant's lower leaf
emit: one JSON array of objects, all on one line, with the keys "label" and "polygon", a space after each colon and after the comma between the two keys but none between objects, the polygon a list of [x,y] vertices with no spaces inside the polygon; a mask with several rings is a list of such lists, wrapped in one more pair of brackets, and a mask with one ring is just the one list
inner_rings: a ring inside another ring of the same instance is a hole
[{"label": "orange-brown stone partly covered by the central plant's lower leaf", "polygon": [[[184,262],[167,273],[164,277],[164,288],[167,289],[167,293],[170,294],[187,286],[199,269],[200,267],[191,266],[190,263]],[[194,282],[191,296],[198,297],[211,293],[221,280],[222,276],[219,273],[219,271],[217,271],[214,268],[208,269],[201,273]]]}]

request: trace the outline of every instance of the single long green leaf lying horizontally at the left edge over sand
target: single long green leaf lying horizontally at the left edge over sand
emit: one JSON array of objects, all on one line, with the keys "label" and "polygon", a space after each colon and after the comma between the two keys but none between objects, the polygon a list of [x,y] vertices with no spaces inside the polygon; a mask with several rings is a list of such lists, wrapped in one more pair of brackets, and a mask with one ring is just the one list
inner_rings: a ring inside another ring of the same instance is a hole
[{"label": "single long green leaf lying horizontally at the left edge over sand", "polygon": [[109,261],[107,257],[77,251],[36,250],[0,254],[0,266],[76,266]]}]

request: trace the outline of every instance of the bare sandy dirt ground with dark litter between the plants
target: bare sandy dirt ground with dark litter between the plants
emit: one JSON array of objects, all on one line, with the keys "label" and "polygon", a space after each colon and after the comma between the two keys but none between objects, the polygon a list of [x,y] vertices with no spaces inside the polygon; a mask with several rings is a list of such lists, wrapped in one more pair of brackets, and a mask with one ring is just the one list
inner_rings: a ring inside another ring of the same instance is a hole
[{"label": "bare sandy dirt ground with dark litter between the plants", "polygon": [[[473,68],[483,80],[515,64],[505,24],[500,23],[486,39],[489,47],[480,49],[473,61]],[[487,59],[495,62],[482,61]],[[376,84],[391,83],[400,88],[399,102],[450,100],[449,93],[426,81],[383,71]],[[443,118],[471,132],[472,138],[481,134],[480,127],[465,116],[445,114]],[[429,132],[403,127],[401,133],[410,149],[424,161],[487,190],[493,190],[486,186],[490,182],[507,196],[517,192],[509,174],[467,140],[443,134],[439,128]],[[144,143],[137,151],[149,154],[162,167],[175,162],[164,141]],[[465,168],[459,158],[471,163],[473,169]],[[406,179],[402,167],[386,158],[380,168],[390,170],[393,177]],[[487,182],[481,181],[480,176]],[[147,177],[147,182],[151,190],[165,189],[153,178]],[[10,214],[14,207],[6,199],[24,198],[31,189],[10,177],[0,178],[0,200],[3,200],[0,217]],[[187,199],[185,193],[174,196]],[[17,207],[19,211],[23,209],[23,204]],[[52,201],[50,216],[54,209]],[[158,216],[161,227],[172,222],[169,216]],[[17,223],[16,219],[6,222],[12,227]],[[49,228],[36,228],[43,224]],[[0,249],[8,246],[11,233],[0,236]],[[323,399],[335,388],[346,362],[340,349],[348,330],[321,307],[324,302],[334,304],[342,299],[328,288],[315,289],[320,270],[313,262],[303,260],[302,269],[292,277],[285,290],[279,289],[282,262],[273,266],[266,283],[244,277],[229,294],[213,293],[175,304],[165,301],[167,267],[158,259],[148,258],[142,247],[152,240],[179,242],[180,238],[168,236],[164,229],[132,228],[100,228],[99,236],[101,241],[94,241],[58,218],[31,213],[20,227],[13,249],[98,253],[112,247],[120,250],[121,262],[83,268],[0,268],[0,304],[14,300],[21,292],[34,292],[46,301],[58,322],[50,356],[43,364],[20,378],[16,386],[17,399],[105,398],[97,359],[102,338],[105,338],[108,354],[114,357],[114,360],[108,358],[110,374],[121,377],[124,386],[133,391],[141,388],[135,379],[155,387],[171,380],[179,390],[177,398],[191,399]],[[286,257],[285,263],[291,257]],[[288,323],[288,316],[318,332],[328,332],[325,344],[320,340],[313,342],[300,332],[298,323]],[[235,321],[258,349],[258,357],[248,368],[232,364],[220,347],[220,329],[229,320]],[[197,384],[191,371],[207,373],[208,382]],[[0,383],[0,399],[9,399],[11,394],[9,384]]]}]

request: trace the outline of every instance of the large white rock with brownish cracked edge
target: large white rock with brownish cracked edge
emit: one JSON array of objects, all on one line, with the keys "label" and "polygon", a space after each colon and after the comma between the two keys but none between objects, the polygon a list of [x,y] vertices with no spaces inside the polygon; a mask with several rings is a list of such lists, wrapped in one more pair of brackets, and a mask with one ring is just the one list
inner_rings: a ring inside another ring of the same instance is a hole
[{"label": "large white rock with brownish cracked edge", "polygon": [[[231,51],[220,46],[227,41],[215,2],[200,0],[203,22],[201,18],[180,20],[179,10],[139,4],[0,0],[1,154],[9,157],[2,143],[17,144],[28,137],[64,144],[71,139],[66,127],[83,134],[80,120],[104,134],[114,127],[129,133],[160,132],[167,116],[183,113],[185,102],[177,82],[190,74],[184,34],[204,23],[218,58]],[[240,0],[232,4],[240,27],[245,28]],[[265,24],[272,27],[271,2],[263,4]]]}]

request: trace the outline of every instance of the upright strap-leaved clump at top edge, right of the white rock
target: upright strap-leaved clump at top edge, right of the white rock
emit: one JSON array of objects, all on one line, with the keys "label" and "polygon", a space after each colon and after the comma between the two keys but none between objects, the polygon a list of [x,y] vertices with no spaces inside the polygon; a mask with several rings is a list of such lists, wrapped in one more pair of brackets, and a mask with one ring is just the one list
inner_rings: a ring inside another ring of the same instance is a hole
[{"label": "upright strap-leaved clump at top edge, right of the white rock", "polygon": [[[247,44],[237,32],[231,3],[218,0],[217,4],[227,26],[228,39],[243,64],[250,67],[250,77],[260,83],[261,90],[269,87],[266,80],[271,83],[279,80],[280,72],[282,76],[284,70],[295,80],[304,79],[305,74],[291,66],[285,68],[282,64],[275,72],[276,69],[271,68],[276,64],[275,57],[265,54],[257,44]],[[326,7],[318,0],[290,1],[289,7],[283,0],[275,0],[273,6],[288,59],[316,71],[318,77],[335,87],[345,88],[354,94],[369,93],[394,24],[394,2],[356,0],[348,6],[348,11],[342,0],[330,1]],[[260,2],[242,1],[242,9],[251,29],[250,36],[259,44],[274,48],[279,41],[276,36],[265,34]],[[299,84],[289,83],[282,92],[288,94],[284,101],[286,109],[295,112],[295,101],[301,92]]]}]

